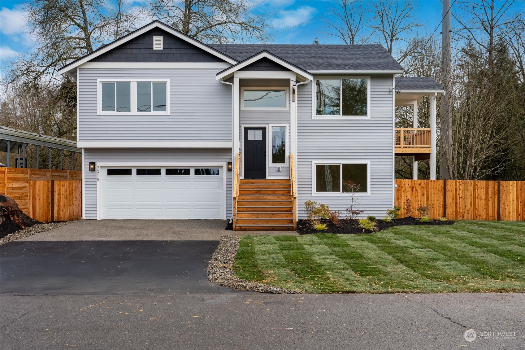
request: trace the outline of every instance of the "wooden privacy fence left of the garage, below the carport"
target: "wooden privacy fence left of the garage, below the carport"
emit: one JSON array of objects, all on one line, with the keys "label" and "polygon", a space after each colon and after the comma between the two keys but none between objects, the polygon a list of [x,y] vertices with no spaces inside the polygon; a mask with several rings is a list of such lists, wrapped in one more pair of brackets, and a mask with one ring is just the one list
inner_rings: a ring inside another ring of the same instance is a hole
[{"label": "wooden privacy fence left of the garage, below the carport", "polygon": [[82,172],[73,170],[0,168],[0,193],[40,222],[82,217]]}]

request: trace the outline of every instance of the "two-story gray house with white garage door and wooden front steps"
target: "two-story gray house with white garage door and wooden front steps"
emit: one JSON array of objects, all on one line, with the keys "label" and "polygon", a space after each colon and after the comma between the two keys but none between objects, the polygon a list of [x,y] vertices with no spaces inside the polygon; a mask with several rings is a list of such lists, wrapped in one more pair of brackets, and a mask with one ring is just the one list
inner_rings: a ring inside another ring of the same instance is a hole
[{"label": "two-story gray house with white garage door and wooden front steps", "polygon": [[[59,73],[78,83],[85,219],[293,229],[305,201],[344,212],[353,185],[382,218],[394,155],[435,169],[443,88],[397,81],[404,70],[381,45],[206,45],[155,21]],[[394,105],[424,95],[431,130],[395,129]]]}]

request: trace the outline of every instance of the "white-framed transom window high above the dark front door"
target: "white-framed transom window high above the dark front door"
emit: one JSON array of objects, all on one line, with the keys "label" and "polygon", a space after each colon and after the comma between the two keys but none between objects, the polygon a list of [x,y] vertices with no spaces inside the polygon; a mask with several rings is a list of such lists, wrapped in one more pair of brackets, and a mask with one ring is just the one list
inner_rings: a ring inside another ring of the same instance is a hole
[{"label": "white-framed transom window high above the dark front door", "polygon": [[288,110],[287,87],[245,87],[241,90],[241,110]]}]

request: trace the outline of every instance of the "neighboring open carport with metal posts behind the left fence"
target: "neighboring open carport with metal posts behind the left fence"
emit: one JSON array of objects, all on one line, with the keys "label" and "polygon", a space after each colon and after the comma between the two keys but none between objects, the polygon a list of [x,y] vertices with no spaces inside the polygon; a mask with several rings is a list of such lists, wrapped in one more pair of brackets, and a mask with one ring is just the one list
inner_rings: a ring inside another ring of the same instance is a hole
[{"label": "neighboring open carport with metal posts behind the left fence", "polygon": [[47,148],[47,155],[49,157],[49,169],[51,169],[53,161],[53,149],[60,151],[60,167],[64,169],[64,151],[69,151],[71,155],[71,169],[75,169],[75,153],[82,153],[80,148],[77,148],[77,142],[61,139],[58,137],[41,135],[40,133],[18,130],[10,127],[0,126],[0,151],[6,152],[6,166],[10,167],[13,163],[11,160],[11,153],[16,153],[15,168],[27,168],[26,148],[29,145],[35,146],[36,166],[39,168],[39,159],[41,156],[41,147]]}]

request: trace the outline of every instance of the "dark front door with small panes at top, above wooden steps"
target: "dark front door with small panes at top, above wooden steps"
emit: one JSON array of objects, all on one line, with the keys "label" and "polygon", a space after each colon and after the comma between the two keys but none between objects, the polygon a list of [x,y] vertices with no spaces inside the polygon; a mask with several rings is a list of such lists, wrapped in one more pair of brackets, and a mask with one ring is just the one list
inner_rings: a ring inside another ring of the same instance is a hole
[{"label": "dark front door with small panes at top, above wooden steps", "polygon": [[244,178],[266,179],[266,128],[244,128]]}]

